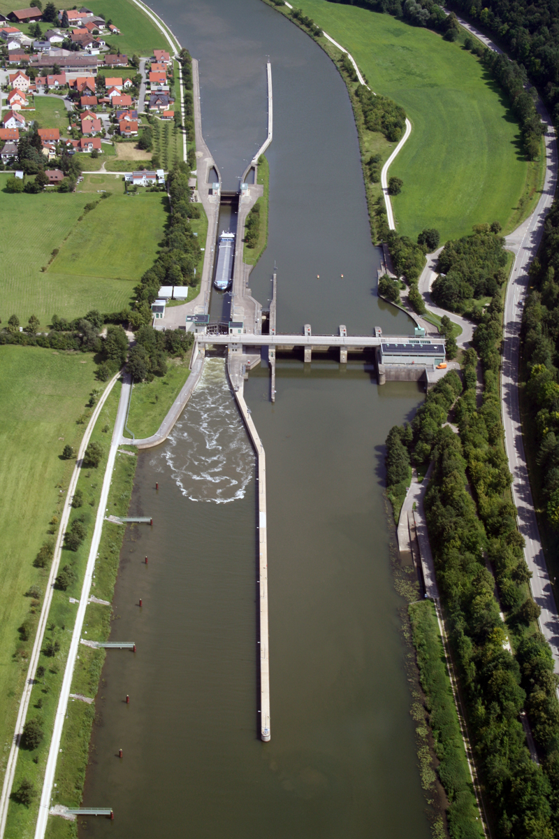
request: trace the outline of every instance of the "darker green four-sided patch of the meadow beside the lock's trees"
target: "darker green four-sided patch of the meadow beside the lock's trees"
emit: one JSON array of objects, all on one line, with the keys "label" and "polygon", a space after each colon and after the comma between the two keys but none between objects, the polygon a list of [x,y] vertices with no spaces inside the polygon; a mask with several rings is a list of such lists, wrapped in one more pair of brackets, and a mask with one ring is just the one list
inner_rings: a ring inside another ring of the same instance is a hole
[{"label": "darker green four-sided patch of the meadow beside the lock's trees", "polygon": [[[111,195],[78,222],[49,271],[86,282],[106,277],[137,283],[157,256],[167,208],[162,192]],[[130,284],[127,290],[130,294]]]}]

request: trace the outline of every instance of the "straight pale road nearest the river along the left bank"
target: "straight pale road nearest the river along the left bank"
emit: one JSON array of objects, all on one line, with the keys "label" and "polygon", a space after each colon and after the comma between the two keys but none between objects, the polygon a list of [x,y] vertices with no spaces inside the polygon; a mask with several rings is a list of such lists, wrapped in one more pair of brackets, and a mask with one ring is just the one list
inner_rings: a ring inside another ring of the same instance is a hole
[{"label": "straight pale road nearest the river along the left bank", "polygon": [[37,825],[35,827],[35,839],[44,839],[44,834],[49,819],[49,810],[54,784],[54,774],[56,772],[56,761],[58,759],[60,749],[60,738],[62,737],[62,728],[64,726],[66,710],[68,707],[68,699],[70,697],[70,686],[72,684],[72,676],[74,675],[75,660],[80,649],[81,631],[83,628],[85,618],[85,609],[87,607],[87,602],[90,597],[91,580],[93,577],[93,571],[95,570],[97,551],[99,550],[99,543],[101,541],[101,531],[103,529],[103,520],[105,519],[106,514],[106,503],[109,497],[109,489],[111,488],[111,477],[115,466],[116,451],[118,449],[118,446],[121,445],[122,430],[124,429],[124,423],[127,416],[130,387],[130,379],[126,374],[124,383],[122,384],[121,398],[118,403],[118,410],[116,412],[116,423],[115,428],[112,432],[111,448],[109,450],[109,457],[106,464],[105,477],[103,478],[103,486],[101,488],[101,499],[99,502],[99,508],[97,510],[95,529],[93,531],[93,539],[91,540],[90,554],[87,560],[87,567],[85,569],[84,583],[81,588],[80,602],[78,604],[78,611],[75,618],[74,632],[72,633],[72,640],[70,642],[70,652],[66,661],[64,680],[62,681],[59,703],[56,709],[56,717],[54,717],[53,737],[50,742],[49,757],[47,758],[47,767],[44,773],[44,784],[39,804],[39,816],[37,818]]}]

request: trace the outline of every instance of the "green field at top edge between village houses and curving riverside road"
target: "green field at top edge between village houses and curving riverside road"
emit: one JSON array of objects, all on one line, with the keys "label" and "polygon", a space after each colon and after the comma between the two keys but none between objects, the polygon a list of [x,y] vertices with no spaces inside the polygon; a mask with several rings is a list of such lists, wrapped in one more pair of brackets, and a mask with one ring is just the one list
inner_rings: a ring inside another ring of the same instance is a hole
[{"label": "green field at top edge between village houses and curving riverside road", "polygon": [[153,50],[169,50],[168,40],[136,3],[130,0],[92,0],[88,8],[94,14],[102,14],[106,20],[111,18],[121,30],[122,34],[109,35],[107,41],[129,58],[134,54],[153,55]]}]

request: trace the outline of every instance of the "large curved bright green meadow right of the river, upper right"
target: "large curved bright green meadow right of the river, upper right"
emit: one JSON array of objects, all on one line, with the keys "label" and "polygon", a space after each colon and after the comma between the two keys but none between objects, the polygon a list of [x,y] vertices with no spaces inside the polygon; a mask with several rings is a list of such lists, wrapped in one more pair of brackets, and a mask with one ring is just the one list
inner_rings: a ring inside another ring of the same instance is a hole
[{"label": "large curved bright green meadow right of the river, upper right", "polygon": [[297,5],[351,52],[371,89],[411,119],[411,137],[390,169],[404,181],[393,199],[398,232],[416,238],[437,227],[444,242],[482,221],[516,227],[539,166],[523,159],[508,102],[474,55],[388,14],[326,0]]}]

